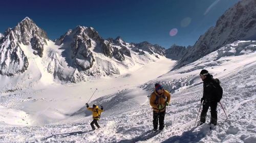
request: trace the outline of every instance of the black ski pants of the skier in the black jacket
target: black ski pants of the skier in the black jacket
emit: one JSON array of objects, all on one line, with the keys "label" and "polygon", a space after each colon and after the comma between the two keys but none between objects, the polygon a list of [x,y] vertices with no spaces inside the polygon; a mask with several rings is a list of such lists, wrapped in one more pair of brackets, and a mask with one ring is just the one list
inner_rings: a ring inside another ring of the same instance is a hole
[{"label": "black ski pants of the skier in the black jacket", "polygon": [[208,108],[210,107],[210,123],[217,125],[217,104],[216,101],[204,101],[203,102],[203,110],[201,112],[200,121],[205,123],[205,118],[207,115]]}]

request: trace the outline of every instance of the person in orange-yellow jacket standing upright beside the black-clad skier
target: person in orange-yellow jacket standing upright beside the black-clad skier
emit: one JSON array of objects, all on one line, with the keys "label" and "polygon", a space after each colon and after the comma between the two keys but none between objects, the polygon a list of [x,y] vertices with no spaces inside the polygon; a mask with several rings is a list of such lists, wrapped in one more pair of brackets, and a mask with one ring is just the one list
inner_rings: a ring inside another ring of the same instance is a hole
[{"label": "person in orange-yellow jacket standing upright beside the black-clad skier", "polygon": [[154,131],[157,131],[159,120],[159,131],[164,128],[165,108],[169,105],[170,93],[163,89],[159,83],[155,84],[155,90],[151,94],[150,105],[153,107],[153,126]]}]

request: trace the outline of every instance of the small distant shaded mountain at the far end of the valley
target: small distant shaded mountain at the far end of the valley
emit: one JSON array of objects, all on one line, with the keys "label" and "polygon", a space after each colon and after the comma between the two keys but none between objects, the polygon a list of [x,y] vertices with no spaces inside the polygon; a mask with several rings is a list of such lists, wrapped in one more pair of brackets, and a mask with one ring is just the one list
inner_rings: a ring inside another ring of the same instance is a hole
[{"label": "small distant shaded mountain at the far end of the valley", "polygon": [[[190,48],[190,46],[188,48]],[[174,44],[165,50],[165,56],[166,58],[178,61],[183,57],[186,50],[187,48],[185,46],[178,46]]]}]

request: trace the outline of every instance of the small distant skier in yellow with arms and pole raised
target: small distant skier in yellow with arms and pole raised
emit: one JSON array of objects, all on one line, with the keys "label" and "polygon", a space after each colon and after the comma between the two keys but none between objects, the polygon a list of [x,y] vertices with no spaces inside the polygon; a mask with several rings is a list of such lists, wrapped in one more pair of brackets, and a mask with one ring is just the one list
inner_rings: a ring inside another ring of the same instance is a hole
[{"label": "small distant skier in yellow with arms and pole raised", "polygon": [[88,103],[86,103],[87,109],[93,112],[93,121],[91,122],[91,126],[92,129],[95,130],[94,124],[100,128],[99,124],[98,124],[98,120],[100,118],[100,114],[101,112],[103,112],[103,107],[101,106],[101,108],[99,109],[99,107],[95,104],[93,104],[93,107],[89,107]]}]

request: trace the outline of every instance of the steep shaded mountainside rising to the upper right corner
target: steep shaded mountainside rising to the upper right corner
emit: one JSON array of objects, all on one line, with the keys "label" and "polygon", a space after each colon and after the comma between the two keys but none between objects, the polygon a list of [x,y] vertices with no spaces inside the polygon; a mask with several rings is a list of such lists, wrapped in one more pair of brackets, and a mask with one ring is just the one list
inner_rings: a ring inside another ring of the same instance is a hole
[{"label": "steep shaded mountainside rising to the upper right corner", "polygon": [[237,40],[256,40],[256,1],[242,0],[228,9],[193,46],[174,69],[194,62]]}]

